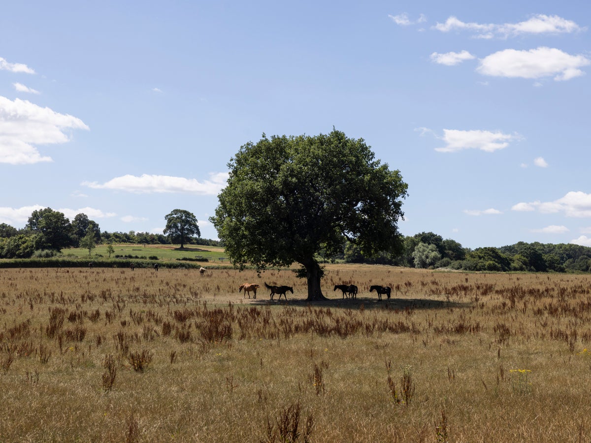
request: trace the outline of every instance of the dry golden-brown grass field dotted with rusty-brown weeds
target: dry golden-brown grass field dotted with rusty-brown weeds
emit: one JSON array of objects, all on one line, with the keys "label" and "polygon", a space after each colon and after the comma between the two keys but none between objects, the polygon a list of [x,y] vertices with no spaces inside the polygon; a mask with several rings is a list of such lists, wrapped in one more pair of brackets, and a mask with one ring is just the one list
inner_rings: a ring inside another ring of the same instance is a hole
[{"label": "dry golden-brown grass field dotted with rusty-brown weeds", "polygon": [[590,284],[329,265],[309,306],[287,270],[0,269],[0,441],[591,441]]}]

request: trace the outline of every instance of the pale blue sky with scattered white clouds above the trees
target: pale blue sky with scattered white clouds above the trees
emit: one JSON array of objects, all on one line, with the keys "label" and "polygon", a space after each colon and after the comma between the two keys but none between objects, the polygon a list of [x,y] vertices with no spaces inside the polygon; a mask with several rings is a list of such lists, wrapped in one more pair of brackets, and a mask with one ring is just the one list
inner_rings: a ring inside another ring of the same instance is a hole
[{"label": "pale blue sky with scattered white clouds above the trees", "polygon": [[586,1],[18,1],[0,13],[0,222],[204,238],[241,145],[363,138],[400,232],[591,246]]}]

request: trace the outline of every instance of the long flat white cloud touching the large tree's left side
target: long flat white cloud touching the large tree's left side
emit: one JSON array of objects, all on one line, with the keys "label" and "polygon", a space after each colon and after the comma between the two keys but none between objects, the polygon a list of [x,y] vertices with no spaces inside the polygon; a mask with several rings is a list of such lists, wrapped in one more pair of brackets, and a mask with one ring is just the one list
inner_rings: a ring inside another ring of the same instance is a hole
[{"label": "long flat white cloud touching the large tree's left side", "polygon": [[184,177],[142,174],[137,177],[124,175],[115,177],[102,185],[96,182],[83,182],[83,186],[93,189],[124,190],[133,193],[191,193],[197,195],[217,195],[228,180],[227,172],[210,174],[210,180],[199,182]]}]

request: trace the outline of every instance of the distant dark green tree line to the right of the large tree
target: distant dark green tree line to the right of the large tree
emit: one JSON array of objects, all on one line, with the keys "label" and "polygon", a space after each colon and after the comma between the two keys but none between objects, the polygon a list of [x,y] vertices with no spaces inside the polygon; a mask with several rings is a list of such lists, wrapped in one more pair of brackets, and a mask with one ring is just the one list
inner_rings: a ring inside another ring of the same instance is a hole
[{"label": "distant dark green tree line to the right of the large tree", "polygon": [[391,264],[426,269],[454,269],[466,271],[530,271],[530,272],[589,272],[591,247],[576,244],[544,244],[520,241],[500,248],[482,247],[471,250],[450,238],[444,240],[433,232],[421,232],[402,240],[400,256],[380,253],[363,256],[362,251],[346,242],[342,256],[323,257],[342,259],[347,263]]}]

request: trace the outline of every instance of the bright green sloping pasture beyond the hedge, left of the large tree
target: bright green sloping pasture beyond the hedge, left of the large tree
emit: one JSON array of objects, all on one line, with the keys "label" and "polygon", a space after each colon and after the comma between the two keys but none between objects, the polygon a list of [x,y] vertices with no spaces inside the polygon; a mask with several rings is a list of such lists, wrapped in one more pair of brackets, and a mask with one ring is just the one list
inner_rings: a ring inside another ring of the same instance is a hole
[{"label": "bright green sloping pasture beyond the hedge, left of the large tree", "polygon": [[[113,245],[115,252],[111,258],[116,256],[131,256],[138,260],[148,260],[150,257],[158,257],[158,260],[171,261],[181,258],[190,258],[193,260],[207,259],[210,264],[229,264],[229,260],[224,253],[224,248],[217,246],[203,245],[142,245],[142,244],[116,244]],[[89,260],[100,260],[100,258],[109,258],[107,245],[98,245],[89,255],[88,250],[84,248],[64,248],[61,251],[62,256],[70,258],[88,258]]]}]

